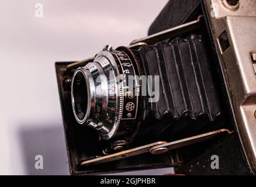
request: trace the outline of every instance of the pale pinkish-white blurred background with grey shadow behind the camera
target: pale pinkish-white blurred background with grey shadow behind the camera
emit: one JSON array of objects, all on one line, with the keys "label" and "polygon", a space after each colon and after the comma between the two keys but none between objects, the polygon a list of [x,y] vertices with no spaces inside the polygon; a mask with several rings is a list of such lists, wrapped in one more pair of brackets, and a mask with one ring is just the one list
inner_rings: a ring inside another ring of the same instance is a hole
[{"label": "pale pinkish-white blurred background with grey shadow behind the camera", "polygon": [[54,62],[146,36],[167,1],[0,1],[0,174],[69,174]]}]

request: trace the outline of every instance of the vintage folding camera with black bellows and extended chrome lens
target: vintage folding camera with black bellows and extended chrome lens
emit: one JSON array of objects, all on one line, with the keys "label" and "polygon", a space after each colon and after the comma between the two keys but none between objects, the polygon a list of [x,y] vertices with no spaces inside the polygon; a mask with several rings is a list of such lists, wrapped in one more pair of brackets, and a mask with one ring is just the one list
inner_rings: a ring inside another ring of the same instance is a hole
[{"label": "vintage folding camera with black bellows and extended chrome lens", "polygon": [[170,0],[148,36],[56,63],[71,174],[255,174],[255,34],[256,1]]}]

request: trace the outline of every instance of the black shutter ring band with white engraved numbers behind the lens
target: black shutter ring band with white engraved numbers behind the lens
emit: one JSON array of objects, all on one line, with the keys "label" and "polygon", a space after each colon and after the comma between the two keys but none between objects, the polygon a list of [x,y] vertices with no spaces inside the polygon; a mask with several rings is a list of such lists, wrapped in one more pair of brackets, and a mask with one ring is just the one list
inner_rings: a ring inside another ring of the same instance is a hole
[{"label": "black shutter ring band with white engraved numbers behind the lens", "polygon": [[137,80],[133,82],[132,86],[132,93],[134,93],[134,98],[132,99],[127,99],[125,97],[126,93],[129,91],[129,86],[128,84],[128,79],[129,76],[134,77],[135,70],[134,70],[134,65],[132,64],[131,59],[129,56],[124,53],[124,51],[114,51],[115,56],[117,57],[120,67],[122,69],[122,74],[124,74],[124,78],[122,80],[122,95],[123,95],[123,101],[122,101],[122,118],[125,120],[134,120],[136,119],[137,112],[138,112],[138,95],[135,95],[135,88],[136,85],[138,85]]}]

